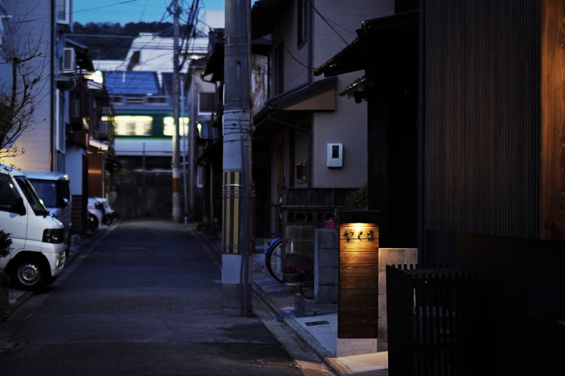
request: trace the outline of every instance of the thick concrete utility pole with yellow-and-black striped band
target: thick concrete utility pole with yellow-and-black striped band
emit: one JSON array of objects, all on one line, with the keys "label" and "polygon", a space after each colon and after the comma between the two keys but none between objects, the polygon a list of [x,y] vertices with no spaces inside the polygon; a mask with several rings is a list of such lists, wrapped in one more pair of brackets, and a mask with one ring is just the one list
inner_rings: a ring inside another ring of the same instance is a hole
[{"label": "thick concrete utility pole with yellow-and-black striped band", "polygon": [[251,313],[250,10],[250,0],[225,1],[221,311],[231,316]]}]

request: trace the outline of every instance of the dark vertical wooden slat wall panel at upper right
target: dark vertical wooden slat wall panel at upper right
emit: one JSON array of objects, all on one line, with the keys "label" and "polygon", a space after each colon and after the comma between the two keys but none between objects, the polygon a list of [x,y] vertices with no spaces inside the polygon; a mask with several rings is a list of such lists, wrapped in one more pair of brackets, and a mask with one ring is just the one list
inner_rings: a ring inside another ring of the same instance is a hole
[{"label": "dark vertical wooden slat wall panel at upper right", "polygon": [[540,236],[540,1],[425,3],[429,229]]}]

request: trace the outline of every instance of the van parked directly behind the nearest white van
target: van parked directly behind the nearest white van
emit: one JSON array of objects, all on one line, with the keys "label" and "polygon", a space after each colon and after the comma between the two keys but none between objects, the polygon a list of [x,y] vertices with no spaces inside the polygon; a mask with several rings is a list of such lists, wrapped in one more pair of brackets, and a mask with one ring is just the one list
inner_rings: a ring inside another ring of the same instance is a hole
[{"label": "van parked directly behind the nearest white van", "polygon": [[71,188],[69,188],[69,178],[60,172],[36,172],[22,171],[46,209],[53,213],[65,228],[65,250],[69,255],[71,246],[71,219],[72,219],[72,198]]}]

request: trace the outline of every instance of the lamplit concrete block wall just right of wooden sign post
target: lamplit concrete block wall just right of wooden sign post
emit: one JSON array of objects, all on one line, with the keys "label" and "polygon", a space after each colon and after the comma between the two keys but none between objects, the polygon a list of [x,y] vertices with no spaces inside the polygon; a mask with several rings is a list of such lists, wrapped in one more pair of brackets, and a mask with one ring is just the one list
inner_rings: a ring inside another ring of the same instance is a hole
[{"label": "lamplit concrete block wall just right of wooden sign post", "polygon": [[379,248],[379,318],[377,351],[388,351],[388,330],[386,326],[386,266],[408,265],[416,267],[418,249],[416,248]]}]

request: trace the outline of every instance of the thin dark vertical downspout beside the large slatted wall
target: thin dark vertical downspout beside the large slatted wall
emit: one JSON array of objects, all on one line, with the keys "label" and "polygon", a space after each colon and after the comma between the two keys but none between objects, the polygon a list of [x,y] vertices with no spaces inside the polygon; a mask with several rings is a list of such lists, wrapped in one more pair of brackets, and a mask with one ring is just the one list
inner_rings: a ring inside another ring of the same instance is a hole
[{"label": "thin dark vertical downspout beside the large slatted wall", "polygon": [[425,229],[425,0],[418,0],[418,264],[429,264]]}]

